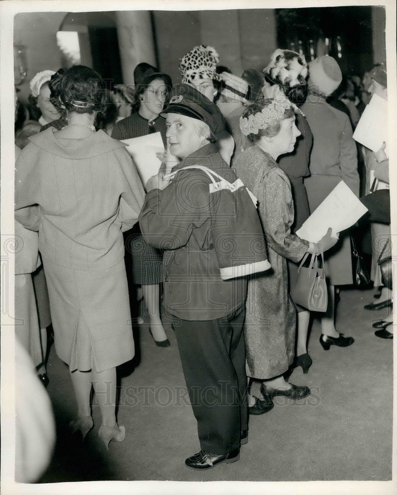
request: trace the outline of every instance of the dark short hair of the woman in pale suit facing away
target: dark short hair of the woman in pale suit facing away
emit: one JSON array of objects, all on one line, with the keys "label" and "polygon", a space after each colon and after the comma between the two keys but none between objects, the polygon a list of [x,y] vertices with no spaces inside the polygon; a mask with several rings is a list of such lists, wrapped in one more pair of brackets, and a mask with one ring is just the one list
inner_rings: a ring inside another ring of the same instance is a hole
[{"label": "dark short hair of the woman in pale suit facing away", "polygon": [[108,102],[105,89],[98,72],[85,65],[74,65],[61,78],[59,99],[68,112],[103,112]]}]

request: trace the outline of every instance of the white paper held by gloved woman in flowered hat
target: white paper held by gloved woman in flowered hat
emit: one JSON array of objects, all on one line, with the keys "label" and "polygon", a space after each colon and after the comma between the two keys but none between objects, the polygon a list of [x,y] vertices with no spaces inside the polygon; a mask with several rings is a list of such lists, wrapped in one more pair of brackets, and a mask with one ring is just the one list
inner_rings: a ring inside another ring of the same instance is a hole
[{"label": "white paper held by gloved woman in flowered hat", "polygon": [[331,191],[296,232],[301,239],[317,243],[325,236],[329,227],[332,237],[338,237],[361,218],[368,209],[343,182]]}]

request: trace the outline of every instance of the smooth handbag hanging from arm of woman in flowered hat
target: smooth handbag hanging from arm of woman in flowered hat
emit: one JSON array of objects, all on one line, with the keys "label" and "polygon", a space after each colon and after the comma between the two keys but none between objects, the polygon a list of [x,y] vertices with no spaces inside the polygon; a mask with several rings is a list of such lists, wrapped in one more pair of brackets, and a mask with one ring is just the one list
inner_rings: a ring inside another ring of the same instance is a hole
[{"label": "smooth handbag hanging from arm of woman in flowered hat", "polygon": [[318,268],[317,255],[312,254],[309,267],[303,264],[307,260],[307,252],[299,265],[298,277],[295,287],[291,290],[293,302],[309,309],[310,311],[327,311],[328,293],[327,283],[325,281],[324,256],[321,253],[323,261],[322,268]]}]

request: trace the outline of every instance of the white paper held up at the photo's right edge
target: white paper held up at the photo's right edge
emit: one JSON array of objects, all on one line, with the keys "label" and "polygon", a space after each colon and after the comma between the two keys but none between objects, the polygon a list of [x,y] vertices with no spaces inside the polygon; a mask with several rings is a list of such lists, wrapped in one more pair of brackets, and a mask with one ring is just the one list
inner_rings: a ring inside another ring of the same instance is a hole
[{"label": "white paper held up at the photo's right edge", "polygon": [[[358,121],[353,139],[372,151],[378,151],[387,137],[388,102],[374,94]],[[389,156],[386,149],[385,153]]]}]

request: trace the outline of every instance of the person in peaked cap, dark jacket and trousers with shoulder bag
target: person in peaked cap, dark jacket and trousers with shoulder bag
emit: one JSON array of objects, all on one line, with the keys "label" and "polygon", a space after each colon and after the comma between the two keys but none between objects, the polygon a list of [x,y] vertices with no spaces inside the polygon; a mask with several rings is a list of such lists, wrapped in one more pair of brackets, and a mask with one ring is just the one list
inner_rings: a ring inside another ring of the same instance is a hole
[{"label": "person in peaked cap, dark jacket and trousers with shoulder bag", "polygon": [[213,144],[218,107],[185,84],[173,95],[167,139],[182,161],[149,179],[139,223],[166,249],[165,305],[201,447],[185,462],[208,469],[238,460],[248,439],[243,275],[270,265],[253,202]]}]

